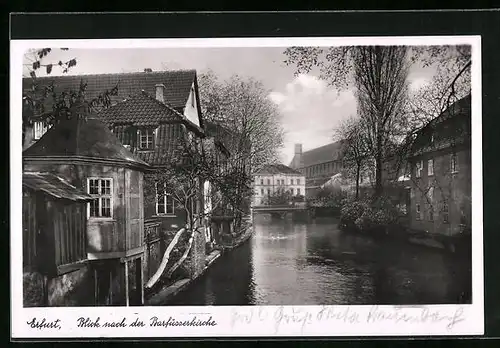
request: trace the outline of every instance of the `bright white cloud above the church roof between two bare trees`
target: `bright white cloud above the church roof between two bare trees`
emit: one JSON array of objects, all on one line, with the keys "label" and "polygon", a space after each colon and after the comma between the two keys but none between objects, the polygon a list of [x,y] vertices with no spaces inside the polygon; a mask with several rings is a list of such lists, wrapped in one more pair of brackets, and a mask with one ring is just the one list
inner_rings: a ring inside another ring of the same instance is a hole
[{"label": "bright white cloud above the church roof between two bare trees", "polygon": [[333,141],[339,121],[355,114],[356,99],[349,90],[329,87],[316,76],[302,74],[288,82],[279,91],[269,94],[283,116],[286,131],[283,161],[293,157],[294,143],[307,151]]}]

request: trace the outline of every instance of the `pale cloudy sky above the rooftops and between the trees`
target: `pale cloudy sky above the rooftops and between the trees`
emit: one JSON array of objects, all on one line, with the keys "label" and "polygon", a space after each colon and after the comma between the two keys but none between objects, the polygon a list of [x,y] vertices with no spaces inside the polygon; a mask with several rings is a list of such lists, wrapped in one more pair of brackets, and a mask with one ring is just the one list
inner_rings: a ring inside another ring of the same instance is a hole
[{"label": "pale cloudy sky above the rooftops and between the trees", "polygon": [[[356,100],[350,90],[337,91],[315,74],[295,76],[295,67],[283,63],[283,47],[242,48],[154,48],[154,49],[53,49],[47,62],[77,59],[71,75],[196,69],[212,70],[220,79],[233,74],[260,80],[269,99],[278,106],[285,130],[281,160],[289,164],[294,144],[303,151],[333,141],[334,129],[343,119],[356,114]],[[27,62],[30,60],[29,56]],[[44,61],[42,61],[44,63]],[[43,69],[41,69],[43,70]],[[43,76],[42,71],[39,74]],[[54,68],[51,75],[60,75]],[[412,68],[410,84],[426,83],[431,72]]]}]

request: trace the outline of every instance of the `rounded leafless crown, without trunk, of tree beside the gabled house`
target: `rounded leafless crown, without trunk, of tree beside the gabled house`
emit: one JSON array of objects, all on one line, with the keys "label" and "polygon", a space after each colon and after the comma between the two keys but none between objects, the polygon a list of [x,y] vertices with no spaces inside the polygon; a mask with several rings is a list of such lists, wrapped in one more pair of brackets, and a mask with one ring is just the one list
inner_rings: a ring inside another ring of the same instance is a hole
[{"label": "rounded leafless crown, without trunk, of tree beside the gabled house", "polygon": [[199,84],[205,118],[233,135],[225,139],[231,161],[250,164],[251,172],[277,161],[284,131],[278,109],[260,81],[238,75],[221,81],[208,71]]}]

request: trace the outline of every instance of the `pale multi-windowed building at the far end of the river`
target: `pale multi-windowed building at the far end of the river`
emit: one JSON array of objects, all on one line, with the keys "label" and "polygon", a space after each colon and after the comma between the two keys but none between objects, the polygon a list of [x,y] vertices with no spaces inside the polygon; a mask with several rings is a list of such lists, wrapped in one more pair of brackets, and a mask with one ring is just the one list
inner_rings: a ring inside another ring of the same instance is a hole
[{"label": "pale multi-windowed building at the far end of the river", "polygon": [[292,196],[305,195],[305,176],[284,164],[267,164],[254,175],[253,205],[265,204],[268,197],[278,192],[289,192]]}]

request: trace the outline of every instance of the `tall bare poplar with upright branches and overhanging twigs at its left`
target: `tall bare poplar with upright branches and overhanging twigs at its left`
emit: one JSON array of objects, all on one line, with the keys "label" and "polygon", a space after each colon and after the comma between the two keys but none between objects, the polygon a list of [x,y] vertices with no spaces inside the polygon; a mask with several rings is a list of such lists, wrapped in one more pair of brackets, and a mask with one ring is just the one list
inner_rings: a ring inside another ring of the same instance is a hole
[{"label": "tall bare poplar with upright branches and overhanging twigs at its left", "polygon": [[338,89],[355,89],[358,113],[367,131],[366,144],[375,162],[375,194],[380,195],[382,166],[394,130],[404,116],[409,60],[404,46],[291,47],[285,63],[296,73],[319,69]]}]

